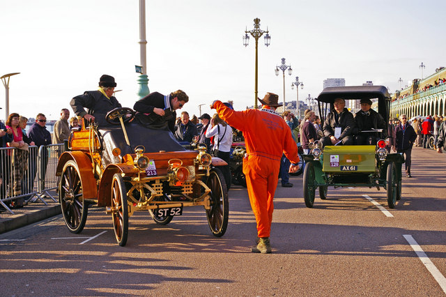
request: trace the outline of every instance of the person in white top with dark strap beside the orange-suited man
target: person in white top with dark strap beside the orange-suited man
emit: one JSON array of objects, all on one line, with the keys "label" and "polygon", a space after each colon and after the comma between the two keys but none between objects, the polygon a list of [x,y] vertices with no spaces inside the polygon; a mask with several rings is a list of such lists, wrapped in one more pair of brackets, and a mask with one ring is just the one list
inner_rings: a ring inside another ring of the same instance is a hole
[{"label": "person in white top with dark strap beside the orange-suited man", "polygon": [[214,114],[212,119],[210,119],[210,125],[206,130],[206,137],[214,137],[213,152],[218,158],[222,158],[228,165],[220,167],[224,179],[226,180],[226,185],[229,190],[231,187],[231,169],[229,168],[229,160],[231,156],[231,146],[232,146],[232,128],[230,125],[226,124],[218,114]]}]

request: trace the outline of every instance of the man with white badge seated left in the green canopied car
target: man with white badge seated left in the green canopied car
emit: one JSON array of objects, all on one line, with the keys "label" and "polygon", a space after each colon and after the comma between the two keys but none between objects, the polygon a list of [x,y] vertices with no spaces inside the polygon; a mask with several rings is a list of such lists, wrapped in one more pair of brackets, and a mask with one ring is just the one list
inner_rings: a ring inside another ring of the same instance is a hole
[{"label": "man with white badge seated left in the green canopied car", "polygon": [[346,100],[342,98],[334,99],[333,105],[334,109],[323,123],[324,137],[321,138],[321,142],[323,146],[352,145],[352,133],[355,128],[353,114],[345,108]]}]

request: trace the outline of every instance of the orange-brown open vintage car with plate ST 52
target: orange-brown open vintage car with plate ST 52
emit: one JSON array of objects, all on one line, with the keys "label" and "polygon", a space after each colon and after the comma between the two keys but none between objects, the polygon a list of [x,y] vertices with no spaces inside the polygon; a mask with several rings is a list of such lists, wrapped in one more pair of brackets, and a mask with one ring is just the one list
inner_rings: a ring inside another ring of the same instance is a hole
[{"label": "orange-brown open vintage car with plate ST 52", "polygon": [[168,224],[183,207],[203,206],[212,234],[223,236],[229,199],[217,166],[224,161],[212,158],[206,147],[187,151],[169,130],[132,119],[132,109],[117,108],[106,116],[110,126],[82,123],[72,131],[56,170],[66,227],[81,232],[89,205],[105,207],[116,241],[124,246],[134,211],[148,211],[157,224]]}]

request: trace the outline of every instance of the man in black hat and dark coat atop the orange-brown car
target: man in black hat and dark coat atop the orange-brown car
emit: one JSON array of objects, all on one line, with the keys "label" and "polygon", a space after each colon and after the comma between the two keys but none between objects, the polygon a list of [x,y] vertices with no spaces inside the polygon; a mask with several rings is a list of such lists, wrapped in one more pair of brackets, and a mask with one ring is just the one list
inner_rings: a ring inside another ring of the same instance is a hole
[{"label": "man in black hat and dark coat atop the orange-brown car", "polygon": [[70,105],[73,112],[87,121],[95,121],[99,127],[108,125],[105,121],[107,112],[116,107],[122,107],[121,103],[113,96],[115,87],[114,77],[102,75],[98,91],[86,91],[71,99]]}]

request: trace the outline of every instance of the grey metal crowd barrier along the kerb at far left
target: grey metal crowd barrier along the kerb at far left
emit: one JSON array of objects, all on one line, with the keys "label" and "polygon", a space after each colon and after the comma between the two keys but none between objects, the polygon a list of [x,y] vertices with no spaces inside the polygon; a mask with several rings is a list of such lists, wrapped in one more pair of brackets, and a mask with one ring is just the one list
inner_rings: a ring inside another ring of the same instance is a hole
[{"label": "grey metal crowd barrier along the kerb at far left", "polygon": [[18,208],[45,199],[58,201],[50,191],[59,187],[56,167],[59,156],[65,151],[64,144],[0,148],[0,207],[14,214]]}]

